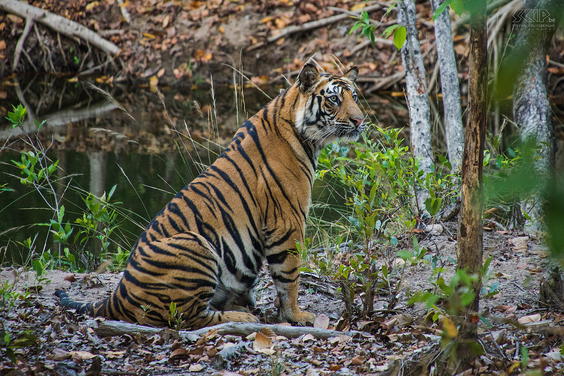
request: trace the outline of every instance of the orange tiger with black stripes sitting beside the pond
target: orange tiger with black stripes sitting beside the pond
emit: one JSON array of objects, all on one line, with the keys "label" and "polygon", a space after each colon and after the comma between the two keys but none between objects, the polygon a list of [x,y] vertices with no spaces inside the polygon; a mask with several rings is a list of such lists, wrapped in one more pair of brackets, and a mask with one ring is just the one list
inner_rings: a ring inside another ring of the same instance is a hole
[{"label": "orange tiger with black stripes sitting beside the pond", "polygon": [[[298,306],[301,257],[316,161],[323,147],[356,141],[365,128],[358,68],[341,77],[306,64],[296,82],[237,130],[230,145],[179,191],[135,242],[108,298],[64,307],[92,317],[185,327],[260,322],[254,289],[267,261],[280,322],[307,326]],[[175,312],[171,312],[173,303]]]}]

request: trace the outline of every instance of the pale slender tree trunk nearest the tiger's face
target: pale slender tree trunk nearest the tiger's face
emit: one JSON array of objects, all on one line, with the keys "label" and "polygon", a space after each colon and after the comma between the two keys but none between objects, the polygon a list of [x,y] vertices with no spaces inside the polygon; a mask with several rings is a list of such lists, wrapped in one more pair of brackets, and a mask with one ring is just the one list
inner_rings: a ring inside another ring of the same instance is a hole
[{"label": "pale slender tree trunk nearest the tiger's face", "polygon": [[[402,53],[403,68],[406,71],[406,91],[409,106],[411,128],[411,149],[419,161],[419,167],[425,173],[431,172],[433,166],[433,142],[431,141],[431,110],[429,107],[429,93],[425,80],[425,66],[419,45],[419,32],[415,27],[417,14],[415,0],[398,0],[398,24],[407,29],[407,39]],[[417,203],[420,210],[425,209],[425,199],[429,192],[417,187]]]}]

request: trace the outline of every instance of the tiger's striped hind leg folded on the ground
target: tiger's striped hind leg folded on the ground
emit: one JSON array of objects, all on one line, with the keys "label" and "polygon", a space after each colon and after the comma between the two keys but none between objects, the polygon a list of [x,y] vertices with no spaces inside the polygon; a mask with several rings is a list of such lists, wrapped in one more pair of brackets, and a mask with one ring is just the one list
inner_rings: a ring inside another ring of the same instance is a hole
[{"label": "tiger's striped hind leg folded on the ground", "polygon": [[[259,322],[250,313],[220,312],[210,306],[219,283],[218,274],[217,254],[199,234],[140,241],[122,279],[127,290],[127,308],[136,316],[142,314],[139,322],[160,325],[173,323],[172,302],[185,325],[194,328],[228,321]],[[151,310],[143,312],[140,306]]]}]

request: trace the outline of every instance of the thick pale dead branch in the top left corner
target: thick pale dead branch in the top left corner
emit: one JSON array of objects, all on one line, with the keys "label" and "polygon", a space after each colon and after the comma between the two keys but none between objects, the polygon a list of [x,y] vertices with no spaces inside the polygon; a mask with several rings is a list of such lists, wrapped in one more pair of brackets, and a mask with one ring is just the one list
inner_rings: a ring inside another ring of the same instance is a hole
[{"label": "thick pale dead branch in the top left corner", "polygon": [[15,14],[21,18],[32,19],[61,34],[65,34],[68,37],[81,38],[82,40],[92,43],[92,45],[108,54],[116,55],[121,51],[120,47],[100,37],[89,28],[24,2],[17,0],[2,0],[0,2],[0,10]]}]

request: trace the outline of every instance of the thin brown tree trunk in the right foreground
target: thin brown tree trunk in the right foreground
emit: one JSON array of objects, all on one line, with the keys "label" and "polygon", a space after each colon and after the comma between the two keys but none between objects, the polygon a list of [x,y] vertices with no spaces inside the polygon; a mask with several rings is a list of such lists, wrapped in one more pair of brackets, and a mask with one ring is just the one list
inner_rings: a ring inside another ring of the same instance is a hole
[{"label": "thin brown tree trunk in the right foreground", "polygon": [[[482,270],[482,206],[483,206],[483,158],[487,121],[487,29],[486,0],[475,1],[470,16],[470,57],[468,79],[468,124],[464,139],[461,164],[461,208],[458,227],[457,269],[481,277]],[[481,278],[480,278],[481,279]],[[478,312],[481,281],[473,283],[474,300],[469,311]],[[458,357],[460,369],[468,369],[475,355],[469,342],[477,342],[476,327],[468,321],[460,330],[461,346]]]}]

